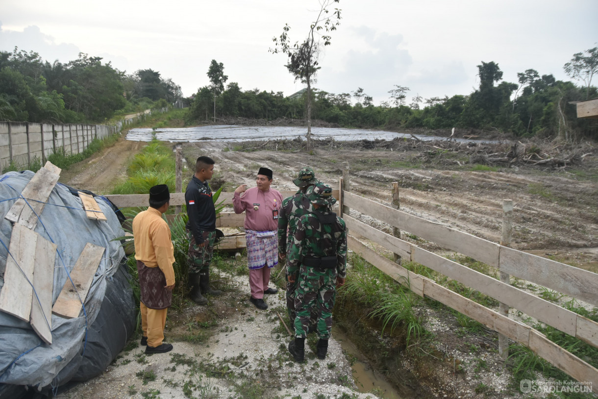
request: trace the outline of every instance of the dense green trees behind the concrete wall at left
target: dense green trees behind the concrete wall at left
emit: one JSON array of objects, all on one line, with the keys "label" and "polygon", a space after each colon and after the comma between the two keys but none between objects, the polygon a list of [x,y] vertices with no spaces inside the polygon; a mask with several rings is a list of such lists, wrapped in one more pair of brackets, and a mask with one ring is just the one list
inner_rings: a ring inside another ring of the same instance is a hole
[{"label": "dense green trees behind the concrete wall at left", "polygon": [[152,69],[126,74],[84,53],[50,63],[34,51],[0,51],[0,120],[101,122],[181,97],[180,86]]}]

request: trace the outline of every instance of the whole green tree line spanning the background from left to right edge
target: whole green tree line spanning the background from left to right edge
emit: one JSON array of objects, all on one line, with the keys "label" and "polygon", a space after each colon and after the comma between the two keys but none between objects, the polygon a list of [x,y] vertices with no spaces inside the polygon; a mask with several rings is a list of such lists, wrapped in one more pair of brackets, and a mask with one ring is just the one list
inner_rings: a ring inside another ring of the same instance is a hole
[{"label": "whole green tree line spanning the background from left to right edge", "polygon": [[[407,104],[410,88],[395,84],[388,100],[374,105],[362,87],[340,94],[312,87],[309,92],[285,96],[282,92],[242,90],[236,82],[225,86],[224,65],[212,60],[207,73],[210,84],[190,99],[187,121],[214,121],[216,117],[307,120],[310,112],[312,119],[343,127],[457,127],[568,141],[598,139],[597,121],[578,119],[574,103],[598,96],[591,84],[598,71],[598,48],[574,54],[563,68],[582,85],[541,75],[535,69],[518,73],[518,83],[509,83],[502,80],[498,63],[481,62],[479,86],[469,95],[429,99],[416,95]],[[289,72],[305,80],[294,69]],[[0,120],[93,123],[180,98],[181,87],[152,69],[127,74],[103,63],[101,57],[83,53],[68,63],[49,63],[33,51],[0,51]]]}]

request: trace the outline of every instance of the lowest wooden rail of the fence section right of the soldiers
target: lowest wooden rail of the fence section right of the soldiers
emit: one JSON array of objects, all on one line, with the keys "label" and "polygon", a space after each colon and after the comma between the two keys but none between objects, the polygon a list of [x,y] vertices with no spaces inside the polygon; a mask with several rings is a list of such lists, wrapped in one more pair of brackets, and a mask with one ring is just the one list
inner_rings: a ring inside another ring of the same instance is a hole
[{"label": "lowest wooden rail of the fence section right of the soldiers", "polygon": [[[527,346],[527,348],[530,348],[535,354],[544,358],[548,363],[560,370],[565,371],[565,373],[576,380],[580,382],[591,382],[593,386],[597,386],[597,368],[547,339],[547,337],[539,331],[460,296],[431,279],[416,275],[415,273],[404,269],[404,267],[395,264],[389,259],[377,254],[372,249],[367,248],[367,246],[359,242],[355,237],[348,237],[347,246],[355,252],[355,254],[358,254],[369,263],[388,274],[391,278],[402,282],[404,285],[408,285],[414,293],[437,300],[446,306],[481,322],[487,327],[492,328],[492,330],[504,334],[515,342],[521,343],[521,345]],[[390,266],[392,266],[392,269],[389,270]],[[389,270],[390,273],[386,270]],[[402,277],[397,278],[397,276]],[[406,281],[408,281],[409,284],[405,284]]]}]

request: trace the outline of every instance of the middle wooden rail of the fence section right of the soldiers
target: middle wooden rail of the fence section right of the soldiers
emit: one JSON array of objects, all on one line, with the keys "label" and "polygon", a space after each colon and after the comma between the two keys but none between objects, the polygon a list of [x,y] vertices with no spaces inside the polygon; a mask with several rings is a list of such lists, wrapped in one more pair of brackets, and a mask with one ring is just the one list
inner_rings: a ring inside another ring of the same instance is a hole
[{"label": "middle wooden rail of the fence section right of the soldiers", "polygon": [[400,254],[403,259],[423,264],[598,348],[598,323],[419,246],[380,232],[352,217],[345,215],[344,221],[350,232],[357,232],[379,243],[390,251]]}]

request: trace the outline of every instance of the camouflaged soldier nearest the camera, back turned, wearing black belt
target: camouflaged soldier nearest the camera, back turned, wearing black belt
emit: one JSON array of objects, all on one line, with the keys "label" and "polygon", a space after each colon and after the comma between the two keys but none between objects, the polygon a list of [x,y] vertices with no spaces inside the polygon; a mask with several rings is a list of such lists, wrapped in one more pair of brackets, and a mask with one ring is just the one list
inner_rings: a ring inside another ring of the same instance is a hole
[{"label": "camouflaged soldier nearest the camera, back turned, wearing black belt", "polygon": [[296,285],[295,339],[289,343],[289,352],[298,362],[304,359],[312,309],[318,313],[316,355],[320,360],[326,358],[335,290],[344,284],[346,277],[347,229],[344,221],[331,211],[336,202],[332,188],[316,184],[309,201],[313,213],[299,219],[286,263],[288,282]]}]

